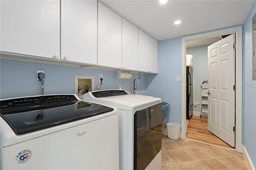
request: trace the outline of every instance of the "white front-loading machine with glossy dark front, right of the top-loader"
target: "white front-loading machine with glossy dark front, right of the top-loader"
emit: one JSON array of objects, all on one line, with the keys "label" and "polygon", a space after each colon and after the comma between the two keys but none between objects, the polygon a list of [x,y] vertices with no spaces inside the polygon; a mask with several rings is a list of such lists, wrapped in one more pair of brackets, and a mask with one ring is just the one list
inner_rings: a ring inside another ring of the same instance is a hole
[{"label": "white front-loading machine with glossy dark front, right of the top-loader", "polygon": [[84,94],[83,100],[116,107],[119,117],[120,170],[161,169],[161,99],[132,95],[124,90],[102,90]]}]

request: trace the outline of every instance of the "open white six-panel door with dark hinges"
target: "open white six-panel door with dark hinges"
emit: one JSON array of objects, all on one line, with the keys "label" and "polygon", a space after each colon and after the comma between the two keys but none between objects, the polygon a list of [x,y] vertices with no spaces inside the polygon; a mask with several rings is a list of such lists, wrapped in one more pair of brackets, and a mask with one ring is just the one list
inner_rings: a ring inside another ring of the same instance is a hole
[{"label": "open white six-panel door with dark hinges", "polygon": [[235,146],[235,34],[208,46],[208,130]]}]

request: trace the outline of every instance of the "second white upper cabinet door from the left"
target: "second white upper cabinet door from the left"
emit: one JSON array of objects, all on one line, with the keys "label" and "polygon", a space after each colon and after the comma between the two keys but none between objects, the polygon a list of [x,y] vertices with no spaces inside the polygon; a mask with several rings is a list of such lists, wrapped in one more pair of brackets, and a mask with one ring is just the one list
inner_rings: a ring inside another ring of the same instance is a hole
[{"label": "second white upper cabinet door from the left", "polygon": [[97,64],[97,1],[61,1],[61,59]]}]

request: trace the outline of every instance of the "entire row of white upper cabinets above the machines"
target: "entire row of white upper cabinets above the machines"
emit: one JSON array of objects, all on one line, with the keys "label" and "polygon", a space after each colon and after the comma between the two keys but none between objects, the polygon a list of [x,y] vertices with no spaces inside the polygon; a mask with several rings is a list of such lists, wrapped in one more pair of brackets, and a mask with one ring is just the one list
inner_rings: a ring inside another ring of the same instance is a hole
[{"label": "entire row of white upper cabinets above the machines", "polygon": [[158,73],[158,42],[100,1],[1,0],[0,26],[7,59]]}]

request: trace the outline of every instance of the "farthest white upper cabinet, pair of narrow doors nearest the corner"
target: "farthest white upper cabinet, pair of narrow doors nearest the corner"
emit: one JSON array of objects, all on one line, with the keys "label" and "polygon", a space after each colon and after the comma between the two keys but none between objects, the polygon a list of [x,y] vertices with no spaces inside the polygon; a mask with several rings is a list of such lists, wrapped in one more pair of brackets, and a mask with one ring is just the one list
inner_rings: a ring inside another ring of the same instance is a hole
[{"label": "farthest white upper cabinet, pair of narrow doors nearest the corner", "polygon": [[139,29],[138,71],[158,73],[158,41]]}]

